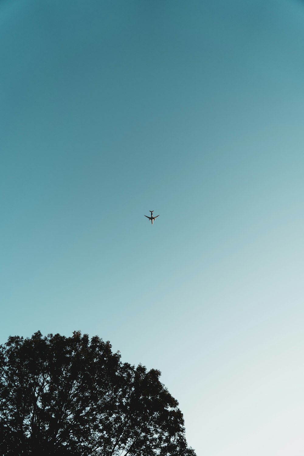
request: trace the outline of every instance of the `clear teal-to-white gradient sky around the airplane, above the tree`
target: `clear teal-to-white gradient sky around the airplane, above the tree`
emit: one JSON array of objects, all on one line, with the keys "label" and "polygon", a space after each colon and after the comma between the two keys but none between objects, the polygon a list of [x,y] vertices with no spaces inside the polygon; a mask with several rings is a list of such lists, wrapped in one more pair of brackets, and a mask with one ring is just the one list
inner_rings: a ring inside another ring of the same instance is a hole
[{"label": "clear teal-to-white gradient sky around the airplane, above the tree", "polygon": [[97,334],[198,456],[303,456],[304,2],[1,0],[0,42],[0,343]]}]

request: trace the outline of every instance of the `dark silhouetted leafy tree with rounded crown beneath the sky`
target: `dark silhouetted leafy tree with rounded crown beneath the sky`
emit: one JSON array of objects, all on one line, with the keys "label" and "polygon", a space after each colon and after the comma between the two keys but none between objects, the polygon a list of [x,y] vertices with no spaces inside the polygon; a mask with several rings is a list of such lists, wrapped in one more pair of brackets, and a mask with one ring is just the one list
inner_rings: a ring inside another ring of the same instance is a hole
[{"label": "dark silhouetted leafy tree with rounded crown beneath the sky", "polygon": [[0,455],[195,456],[160,371],[74,332],[0,346]]}]

